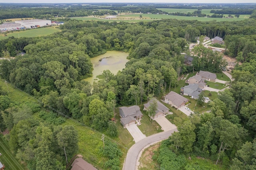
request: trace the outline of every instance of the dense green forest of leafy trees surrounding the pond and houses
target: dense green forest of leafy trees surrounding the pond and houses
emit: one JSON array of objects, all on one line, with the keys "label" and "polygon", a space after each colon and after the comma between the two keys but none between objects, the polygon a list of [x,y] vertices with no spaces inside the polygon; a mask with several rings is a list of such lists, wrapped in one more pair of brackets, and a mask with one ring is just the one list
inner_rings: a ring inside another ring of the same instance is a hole
[{"label": "dense green forest of leafy trees surrounding the pond and houses", "polygon": [[[0,61],[1,78],[42,103],[19,106],[0,89],[0,130],[10,131],[10,148],[28,169],[64,169],[78,149],[76,129],[60,126],[65,119],[44,108],[115,139],[118,130],[110,119],[116,107],[142,104],[149,96],[164,94],[184,73],[221,72],[226,66],[222,53],[201,43],[192,53],[188,49],[196,37],[204,36],[222,37],[225,53],[242,64],[233,70],[230,88],[208,104],[210,112],[195,113],[185,121],[174,119],[179,132],[162,143],[154,159],[164,169],[200,169],[186,166],[184,159],[190,155],[209,158],[227,169],[255,169],[256,20],[69,20],[60,29],[45,37],[0,41],[0,56],[6,58]],[[90,58],[108,50],[128,52],[126,67],[116,75],[105,70],[93,84],[84,81],[92,74]],[[19,52],[26,54],[16,56]],[[184,64],[181,53],[193,57],[192,66]],[[101,168],[120,169],[122,153],[114,143],[108,145],[99,147],[99,155],[108,160]]]}]

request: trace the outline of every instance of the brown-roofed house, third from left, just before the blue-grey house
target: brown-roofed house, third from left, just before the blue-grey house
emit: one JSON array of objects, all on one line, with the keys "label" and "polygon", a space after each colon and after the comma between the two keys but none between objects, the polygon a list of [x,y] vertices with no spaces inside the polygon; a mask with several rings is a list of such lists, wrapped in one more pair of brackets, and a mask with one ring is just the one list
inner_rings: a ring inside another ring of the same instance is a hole
[{"label": "brown-roofed house, third from left, just before the blue-grey house", "polygon": [[175,107],[176,109],[185,106],[187,102],[187,98],[173,91],[164,96],[164,103],[170,104],[170,106]]}]

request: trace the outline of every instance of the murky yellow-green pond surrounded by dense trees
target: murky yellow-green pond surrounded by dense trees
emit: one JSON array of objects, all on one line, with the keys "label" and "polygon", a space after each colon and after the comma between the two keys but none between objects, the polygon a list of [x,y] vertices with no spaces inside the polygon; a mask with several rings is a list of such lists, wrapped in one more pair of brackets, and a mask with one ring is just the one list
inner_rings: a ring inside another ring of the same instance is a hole
[{"label": "murky yellow-green pond surrounded by dense trees", "polygon": [[125,63],[129,61],[126,59],[128,55],[129,53],[122,51],[107,51],[105,54],[91,58],[93,65],[92,77],[84,80],[93,84],[94,81],[98,80],[96,76],[102,74],[104,70],[110,70],[112,73],[116,74],[119,70],[125,68]]}]

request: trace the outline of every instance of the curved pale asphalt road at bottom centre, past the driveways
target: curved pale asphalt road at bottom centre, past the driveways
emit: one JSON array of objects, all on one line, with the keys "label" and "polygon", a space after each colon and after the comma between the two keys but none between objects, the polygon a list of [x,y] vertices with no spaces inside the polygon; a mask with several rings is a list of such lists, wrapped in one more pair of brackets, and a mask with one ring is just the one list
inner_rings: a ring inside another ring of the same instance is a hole
[{"label": "curved pale asphalt road at bottom centre, past the driveways", "polygon": [[146,137],[141,141],[138,141],[137,143],[132,145],[132,147],[127,152],[123,170],[136,170],[136,160],[138,158],[140,151],[151,143],[167,139],[169,136],[172,135],[174,131],[178,131],[178,130],[173,129],[170,131],[157,133],[149,137]]}]

